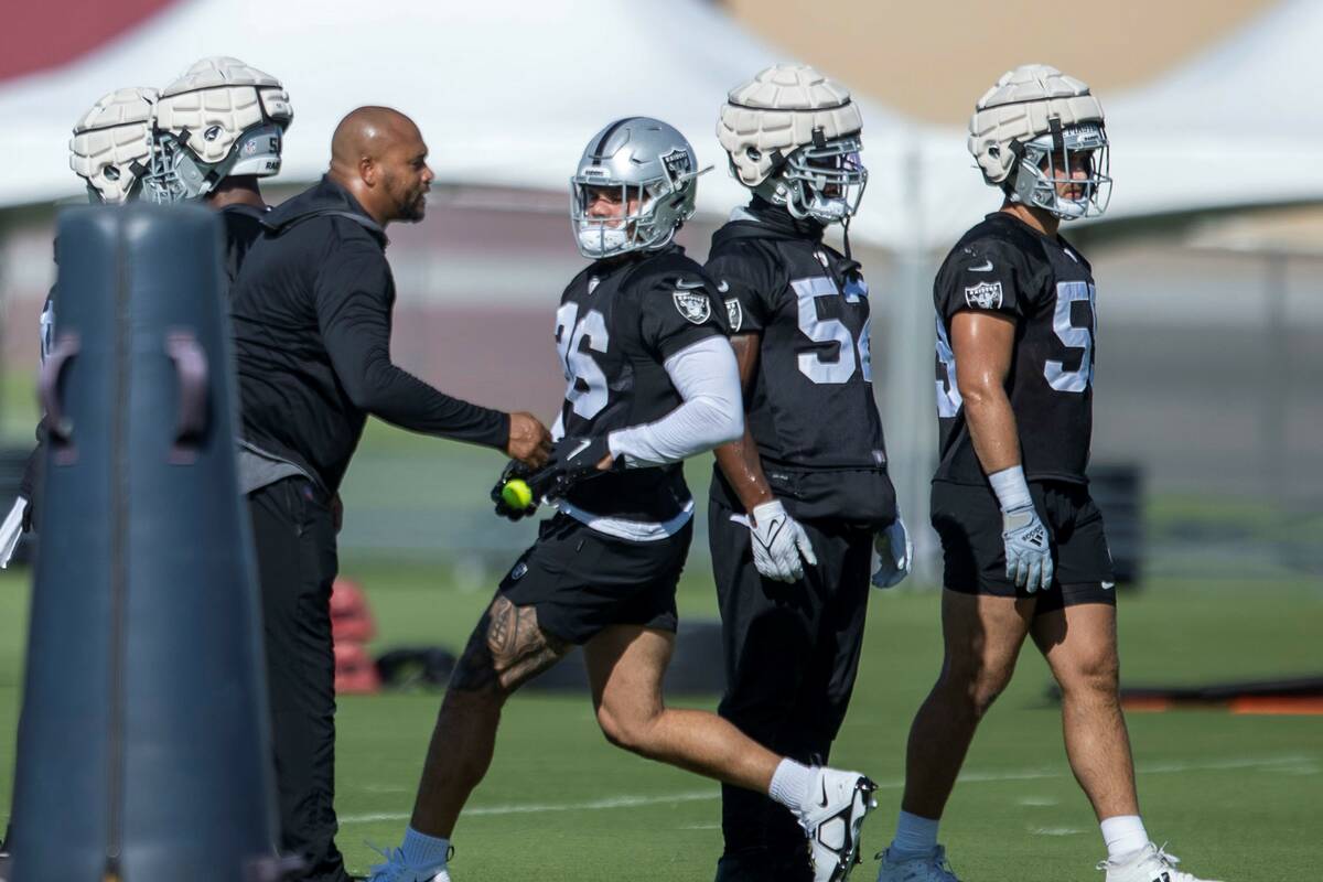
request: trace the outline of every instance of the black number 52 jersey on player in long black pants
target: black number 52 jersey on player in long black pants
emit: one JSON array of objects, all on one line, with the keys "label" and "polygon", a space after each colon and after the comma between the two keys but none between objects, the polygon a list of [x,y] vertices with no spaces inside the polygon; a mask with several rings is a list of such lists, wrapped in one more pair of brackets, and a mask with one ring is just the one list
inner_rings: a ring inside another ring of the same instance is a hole
[{"label": "black number 52 jersey on player in long black pants", "polygon": [[[814,512],[885,521],[894,514],[873,398],[868,283],[822,235],[820,225],[755,201],[712,237],[705,268],[732,333],[759,335],[745,409],[773,492],[783,495],[778,475],[840,472],[827,481],[833,489],[816,480],[828,508]],[[738,509],[733,493],[726,501]]]}]

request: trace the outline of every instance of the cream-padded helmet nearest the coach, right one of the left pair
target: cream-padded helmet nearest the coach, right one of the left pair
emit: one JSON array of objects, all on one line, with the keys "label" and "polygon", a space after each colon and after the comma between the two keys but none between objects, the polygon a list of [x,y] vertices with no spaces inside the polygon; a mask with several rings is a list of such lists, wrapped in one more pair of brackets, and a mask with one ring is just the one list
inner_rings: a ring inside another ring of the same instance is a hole
[{"label": "cream-padded helmet nearest the coach, right one of the left pair", "polygon": [[280,172],[284,132],[294,122],[280,81],[238,58],[202,58],[161,90],[147,197],[200,198],[230,176]]}]

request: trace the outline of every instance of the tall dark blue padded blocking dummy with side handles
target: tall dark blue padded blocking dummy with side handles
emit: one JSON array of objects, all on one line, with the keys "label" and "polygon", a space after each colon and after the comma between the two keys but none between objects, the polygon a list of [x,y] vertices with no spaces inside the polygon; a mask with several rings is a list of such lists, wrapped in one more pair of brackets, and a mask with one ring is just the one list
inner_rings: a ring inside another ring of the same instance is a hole
[{"label": "tall dark blue padded blocking dummy with side handles", "polygon": [[280,875],[221,225],[60,218],[11,879]]}]

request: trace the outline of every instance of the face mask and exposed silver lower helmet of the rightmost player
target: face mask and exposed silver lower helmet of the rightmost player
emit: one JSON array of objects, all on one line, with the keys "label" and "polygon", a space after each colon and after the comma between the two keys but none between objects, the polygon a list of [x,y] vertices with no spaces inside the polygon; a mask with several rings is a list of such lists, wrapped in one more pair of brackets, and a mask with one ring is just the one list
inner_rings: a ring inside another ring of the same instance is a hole
[{"label": "face mask and exposed silver lower helmet of the rightmost player", "polygon": [[[1056,120],[1052,120],[1056,122]],[[1098,217],[1111,201],[1107,135],[1098,123],[1062,128],[1017,145],[1007,197],[1069,221]],[[1078,177],[1080,172],[1084,173]],[[1065,193],[1062,192],[1065,190]]]}]

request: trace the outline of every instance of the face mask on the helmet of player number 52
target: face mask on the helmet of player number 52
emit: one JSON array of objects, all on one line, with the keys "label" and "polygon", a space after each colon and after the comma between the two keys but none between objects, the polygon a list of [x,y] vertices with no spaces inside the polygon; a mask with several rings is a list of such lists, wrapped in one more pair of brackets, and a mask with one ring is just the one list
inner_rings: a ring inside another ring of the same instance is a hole
[{"label": "face mask on the helmet of player number 52", "polygon": [[836,223],[855,216],[868,185],[859,135],[800,147],[754,192],[796,220]]}]

